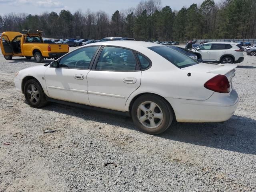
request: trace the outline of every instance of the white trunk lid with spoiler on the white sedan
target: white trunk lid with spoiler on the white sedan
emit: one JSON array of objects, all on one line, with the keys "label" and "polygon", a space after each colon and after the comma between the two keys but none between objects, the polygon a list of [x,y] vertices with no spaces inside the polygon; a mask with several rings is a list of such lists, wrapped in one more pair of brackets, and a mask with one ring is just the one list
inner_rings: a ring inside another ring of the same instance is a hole
[{"label": "white trunk lid with spoiler on the white sedan", "polygon": [[225,75],[228,78],[230,84],[230,92],[232,91],[232,78],[235,76],[236,64],[206,64],[199,63],[193,66],[183,68],[184,70],[196,71],[196,72],[207,72],[213,74]]}]

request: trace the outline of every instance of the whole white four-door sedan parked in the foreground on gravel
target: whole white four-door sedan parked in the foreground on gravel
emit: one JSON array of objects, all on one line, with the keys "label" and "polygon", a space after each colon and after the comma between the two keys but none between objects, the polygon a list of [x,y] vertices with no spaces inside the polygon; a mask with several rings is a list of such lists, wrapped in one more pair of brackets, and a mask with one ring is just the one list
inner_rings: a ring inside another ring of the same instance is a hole
[{"label": "whole white four-door sedan parked in the foreground on gravel", "polygon": [[16,89],[32,107],[48,101],[108,109],[160,134],[178,122],[222,122],[238,106],[236,65],[212,65],[167,46],[109,41],[82,46],[44,66],[20,70]]}]

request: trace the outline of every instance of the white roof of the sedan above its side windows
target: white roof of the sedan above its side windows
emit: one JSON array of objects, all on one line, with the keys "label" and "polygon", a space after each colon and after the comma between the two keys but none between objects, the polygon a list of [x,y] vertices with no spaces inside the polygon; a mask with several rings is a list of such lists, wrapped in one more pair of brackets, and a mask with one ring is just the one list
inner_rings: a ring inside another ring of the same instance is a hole
[{"label": "white roof of the sedan above its side windows", "polygon": [[130,49],[134,49],[134,46],[142,46],[146,48],[153,47],[153,46],[165,46],[165,45],[155,44],[155,43],[145,42],[145,41],[104,41],[104,42],[94,43],[93,45],[119,46],[119,47],[130,48]]}]

